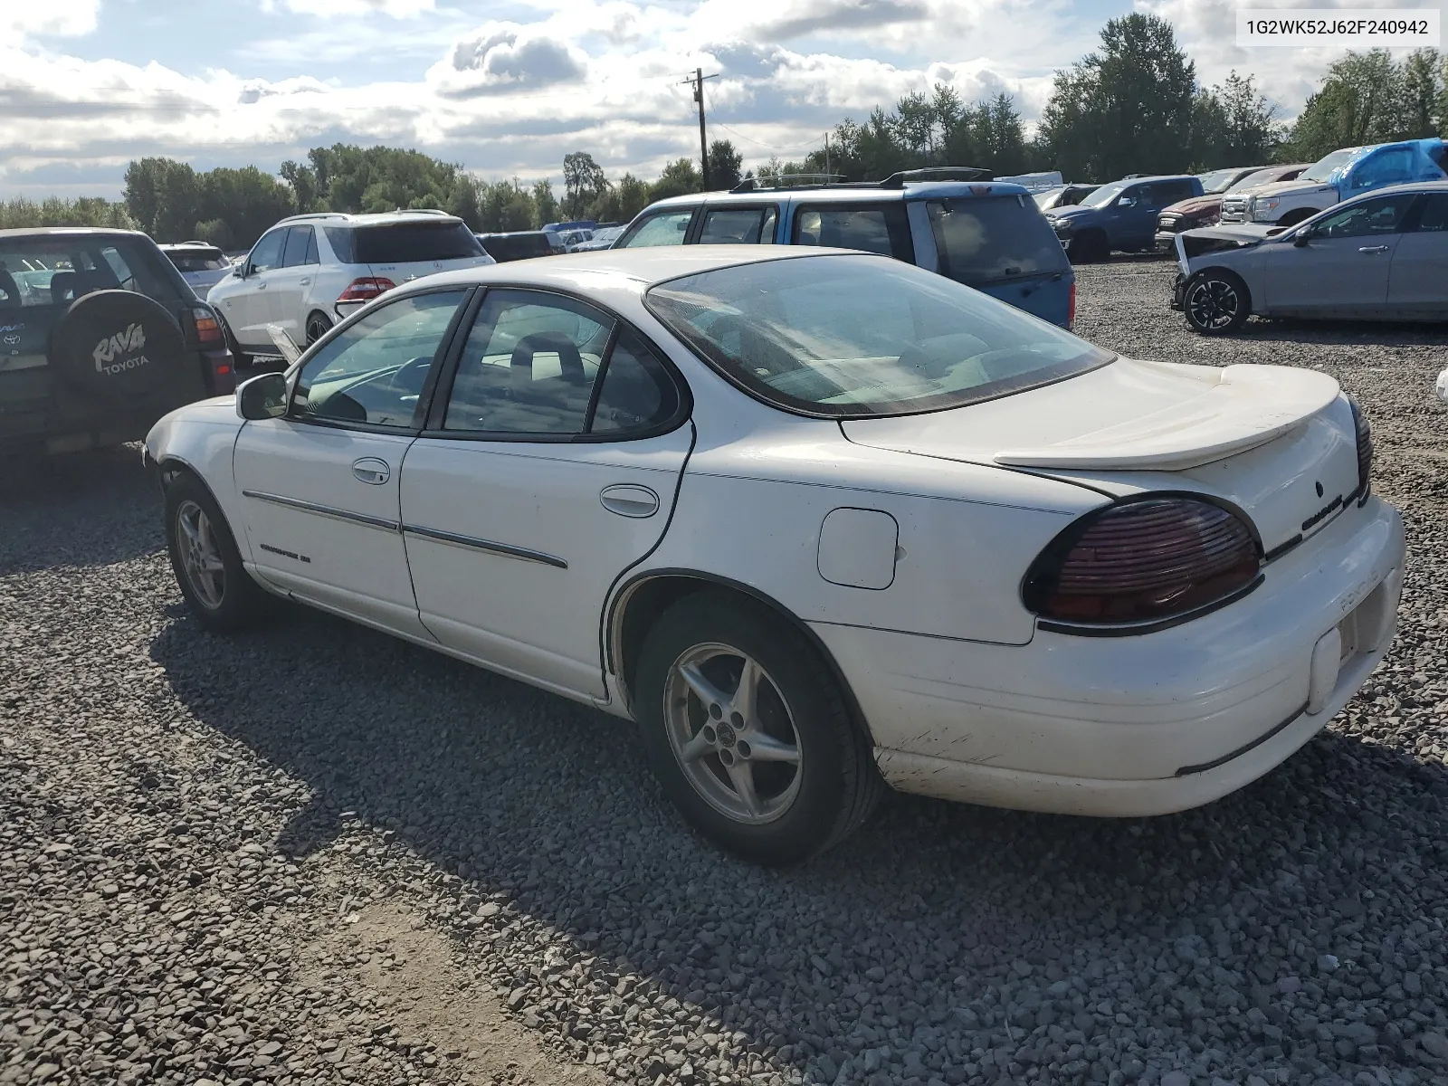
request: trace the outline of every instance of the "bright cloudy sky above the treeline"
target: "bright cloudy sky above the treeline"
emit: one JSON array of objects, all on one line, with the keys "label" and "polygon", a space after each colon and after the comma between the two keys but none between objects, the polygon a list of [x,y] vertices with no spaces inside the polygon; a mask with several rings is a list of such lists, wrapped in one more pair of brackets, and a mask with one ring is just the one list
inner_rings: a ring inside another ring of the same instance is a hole
[{"label": "bright cloudy sky above the treeline", "polygon": [[1235,48],[1228,0],[0,0],[0,195],[114,197],[140,155],[275,171],[337,140],[485,178],[557,177],[578,149],[653,177],[698,153],[699,65],[723,77],[711,136],[746,164],[937,81],[1034,119],[1132,9],[1171,19],[1205,83],[1254,72],[1289,117],[1337,55]]}]

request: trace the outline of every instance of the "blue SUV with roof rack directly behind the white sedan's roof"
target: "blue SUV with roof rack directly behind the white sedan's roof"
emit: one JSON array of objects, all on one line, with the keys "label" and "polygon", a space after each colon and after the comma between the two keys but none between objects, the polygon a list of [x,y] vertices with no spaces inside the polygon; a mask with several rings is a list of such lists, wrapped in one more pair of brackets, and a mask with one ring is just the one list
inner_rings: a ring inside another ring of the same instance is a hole
[{"label": "blue SUV with roof rack directly behind the white sedan's roof", "polygon": [[863,249],[1063,329],[1076,320],[1076,272],[1031,194],[969,167],[862,184],[762,188],[750,180],[727,193],[676,195],[640,211],[613,248],[653,245]]}]

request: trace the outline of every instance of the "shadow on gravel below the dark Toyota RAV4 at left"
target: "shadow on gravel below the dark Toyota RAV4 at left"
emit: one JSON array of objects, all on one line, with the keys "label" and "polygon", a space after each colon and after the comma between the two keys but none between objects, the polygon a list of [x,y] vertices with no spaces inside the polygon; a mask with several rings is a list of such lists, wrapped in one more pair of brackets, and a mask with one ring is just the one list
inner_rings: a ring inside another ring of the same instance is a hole
[{"label": "shadow on gravel below the dark Toyota RAV4 at left", "polygon": [[162,547],[161,492],[139,446],[0,459],[0,576],[104,566]]}]

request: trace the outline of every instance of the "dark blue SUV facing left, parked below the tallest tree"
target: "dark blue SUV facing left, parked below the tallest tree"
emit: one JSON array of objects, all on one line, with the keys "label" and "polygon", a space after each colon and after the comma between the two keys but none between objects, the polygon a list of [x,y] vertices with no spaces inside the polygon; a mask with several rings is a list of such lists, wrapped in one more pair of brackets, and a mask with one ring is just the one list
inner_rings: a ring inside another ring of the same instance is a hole
[{"label": "dark blue SUV facing left, parked below the tallest tree", "polygon": [[1072,264],[1086,264],[1116,251],[1154,249],[1161,209],[1193,195],[1202,195],[1199,177],[1132,177],[1102,185],[1076,207],[1061,207],[1047,219]]}]

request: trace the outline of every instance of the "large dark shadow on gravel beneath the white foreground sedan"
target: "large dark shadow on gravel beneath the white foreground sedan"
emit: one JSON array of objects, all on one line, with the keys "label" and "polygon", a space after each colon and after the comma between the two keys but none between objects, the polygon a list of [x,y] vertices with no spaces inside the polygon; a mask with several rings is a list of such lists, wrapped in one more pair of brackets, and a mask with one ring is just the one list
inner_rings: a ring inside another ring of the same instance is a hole
[{"label": "large dark shadow on gravel beneath the white foreground sedan", "polygon": [[[1154,820],[898,796],[821,860],[769,872],[682,827],[627,724],[382,634],[301,610],[232,639],[181,620],[152,659],[200,721],[313,789],[285,849],[326,847],[356,812],[792,1045],[785,1061],[899,1031],[934,1061],[943,1038],[989,1047],[1009,1008],[1027,1067],[1050,1019],[1063,1044],[1121,1025],[1089,986],[1154,1008],[1129,1024],[1142,1044],[1158,1031],[1150,1047],[1215,1047],[1228,1067],[1263,1045],[1345,1082],[1444,1066],[1403,1040],[1420,1027],[1387,1024],[1448,1005],[1448,975],[1415,972],[1441,938],[1448,775],[1355,738],[1326,733],[1244,792]],[[1364,1014],[1376,1041],[1334,1032]]]}]

